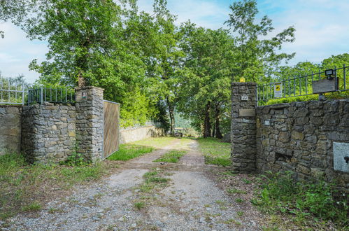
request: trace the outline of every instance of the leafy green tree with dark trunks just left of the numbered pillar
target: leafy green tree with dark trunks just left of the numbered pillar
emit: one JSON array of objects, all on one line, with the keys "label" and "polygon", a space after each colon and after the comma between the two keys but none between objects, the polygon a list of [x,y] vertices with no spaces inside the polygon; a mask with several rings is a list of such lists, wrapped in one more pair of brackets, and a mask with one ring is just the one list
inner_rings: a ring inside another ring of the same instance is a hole
[{"label": "leafy green tree with dark trunks just left of the numbered pillar", "polygon": [[[190,22],[182,25],[181,33],[180,47],[186,57],[179,109],[191,118],[197,130],[202,127],[204,137],[213,134],[221,137],[220,106],[229,99],[225,52],[232,45],[232,39],[224,29],[197,28]],[[212,127],[215,127],[214,132]]]}]

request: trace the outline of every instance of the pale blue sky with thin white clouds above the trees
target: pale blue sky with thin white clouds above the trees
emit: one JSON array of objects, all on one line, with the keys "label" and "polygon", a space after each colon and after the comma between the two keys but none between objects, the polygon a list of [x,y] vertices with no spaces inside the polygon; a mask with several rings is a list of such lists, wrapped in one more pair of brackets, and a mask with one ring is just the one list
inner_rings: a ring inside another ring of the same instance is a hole
[{"label": "pale blue sky with thin white clouds above the trees", "polygon": [[[190,20],[200,27],[224,27],[233,0],[167,0],[169,10],[177,15],[177,24]],[[296,41],[287,43],[281,52],[296,52],[289,63],[314,62],[331,55],[349,52],[349,0],[257,0],[259,15],[273,20],[274,34],[287,27],[296,29]],[[140,10],[152,11],[152,0],[138,0]],[[21,29],[10,22],[0,22],[5,38],[0,38],[0,71],[2,76],[23,74],[29,83],[38,73],[29,71],[32,59],[45,60],[45,41],[30,41]]]}]

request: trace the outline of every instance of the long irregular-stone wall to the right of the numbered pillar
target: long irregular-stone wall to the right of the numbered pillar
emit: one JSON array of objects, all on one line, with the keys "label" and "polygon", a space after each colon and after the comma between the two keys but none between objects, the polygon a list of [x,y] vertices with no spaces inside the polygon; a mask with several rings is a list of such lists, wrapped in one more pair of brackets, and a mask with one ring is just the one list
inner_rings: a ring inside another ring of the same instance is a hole
[{"label": "long irregular-stone wall to the right of the numbered pillar", "polygon": [[[349,189],[334,170],[334,142],[349,143],[349,99],[257,107],[257,171],[290,170]],[[349,155],[349,153],[348,153]]]}]

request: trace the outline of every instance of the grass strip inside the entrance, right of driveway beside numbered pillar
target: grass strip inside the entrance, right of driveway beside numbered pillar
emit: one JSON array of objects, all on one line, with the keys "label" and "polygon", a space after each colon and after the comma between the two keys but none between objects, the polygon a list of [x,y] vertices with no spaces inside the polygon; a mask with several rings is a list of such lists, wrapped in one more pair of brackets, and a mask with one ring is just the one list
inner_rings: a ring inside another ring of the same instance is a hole
[{"label": "grass strip inside the entrance, right of driveway beside numbered pillar", "polygon": [[232,165],[230,160],[230,144],[223,143],[215,138],[199,138],[199,150],[205,156],[205,163],[208,165]]}]

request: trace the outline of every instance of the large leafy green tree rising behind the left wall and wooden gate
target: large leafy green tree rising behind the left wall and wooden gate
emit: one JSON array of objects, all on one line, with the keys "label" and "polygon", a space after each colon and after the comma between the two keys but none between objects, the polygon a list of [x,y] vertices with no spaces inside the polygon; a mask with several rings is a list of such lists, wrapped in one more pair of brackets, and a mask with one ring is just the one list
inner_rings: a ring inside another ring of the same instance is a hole
[{"label": "large leafy green tree rising behind the left wall and wooden gate", "polygon": [[0,20],[48,41],[47,60],[29,65],[41,73],[38,83],[103,87],[105,99],[122,104],[122,125],[129,126],[156,113],[147,77],[164,3],[155,1],[150,15],[138,12],[134,0],[1,0]]}]

